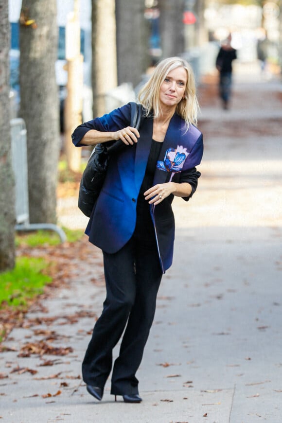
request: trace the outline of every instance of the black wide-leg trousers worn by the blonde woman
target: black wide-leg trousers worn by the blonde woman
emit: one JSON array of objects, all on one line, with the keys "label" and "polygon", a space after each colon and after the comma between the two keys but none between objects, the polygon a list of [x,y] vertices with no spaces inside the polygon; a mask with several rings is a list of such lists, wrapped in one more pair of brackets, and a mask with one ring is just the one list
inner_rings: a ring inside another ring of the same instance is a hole
[{"label": "black wide-leg trousers worn by the blonde woman", "polygon": [[134,234],[117,253],[103,252],[103,256],[106,300],[82,364],[83,380],[104,387],[112,369],[112,350],[125,328],[112,371],[111,394],[135,394],[135,373],[153,323],[162,277],[156,240]]}]

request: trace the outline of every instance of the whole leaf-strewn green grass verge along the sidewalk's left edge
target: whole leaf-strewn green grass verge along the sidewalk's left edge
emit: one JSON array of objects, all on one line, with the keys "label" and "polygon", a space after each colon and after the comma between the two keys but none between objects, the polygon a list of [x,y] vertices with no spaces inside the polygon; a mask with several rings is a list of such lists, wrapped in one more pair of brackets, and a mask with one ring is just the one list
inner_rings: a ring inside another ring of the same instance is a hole
[{"label": "whole leaf-strewn green grass verge along the sidewalk's left edge", "polygon": [[[57,274],[56,260],[60,258],[60,254],[66,254],[66,250],[73,251],[75,242],[79,243],[83,238],[81,230],[63,229],[69,244],[62,247],[59,235],[52,230],[17,233],[16,266],[13,270],[0,273],[0,343],[13,327],[21,324],[29,306],[38,295],[44,293],[47,284],[53,282],[54,287],[58,286],[54,277]],[[41,257],[37,257],[37,254],[34,257],[33,250],[39,252]],[[50,262],[43,255],[54,261]],[[60,285],[61,283],[60,280]]]}]

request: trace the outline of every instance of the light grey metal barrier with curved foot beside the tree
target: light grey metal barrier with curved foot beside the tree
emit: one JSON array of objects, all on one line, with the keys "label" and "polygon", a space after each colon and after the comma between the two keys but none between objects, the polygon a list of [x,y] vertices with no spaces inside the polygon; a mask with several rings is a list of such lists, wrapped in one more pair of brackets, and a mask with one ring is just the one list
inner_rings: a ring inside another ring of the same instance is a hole
[{"label": "light grey metal barrier with curved foot beside the tree", "polygon": [[23,119],[15,118],[10,121],[12,138],[12,166],[16,182],[16,230],[49,229],[58,233],[62,242],[67,237],[63,229],[52,223],[29,223],[28,201],[28,167],[26,126]]}]

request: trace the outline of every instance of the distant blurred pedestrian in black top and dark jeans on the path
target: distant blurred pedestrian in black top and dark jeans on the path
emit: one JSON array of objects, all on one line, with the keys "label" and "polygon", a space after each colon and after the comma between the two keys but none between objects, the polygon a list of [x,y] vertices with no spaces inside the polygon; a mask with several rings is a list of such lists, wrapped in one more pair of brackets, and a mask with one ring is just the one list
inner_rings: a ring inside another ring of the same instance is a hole
[{"label": "distant blurred pedestrian in black top and dark jeans on the path", "polygon": [[231,47],[231,34],[222,44],[217,57],[216,69],[219,71],[219,96],[225,110],[229,108],[232,86],[232,61],[237,58],[236,50]]}]

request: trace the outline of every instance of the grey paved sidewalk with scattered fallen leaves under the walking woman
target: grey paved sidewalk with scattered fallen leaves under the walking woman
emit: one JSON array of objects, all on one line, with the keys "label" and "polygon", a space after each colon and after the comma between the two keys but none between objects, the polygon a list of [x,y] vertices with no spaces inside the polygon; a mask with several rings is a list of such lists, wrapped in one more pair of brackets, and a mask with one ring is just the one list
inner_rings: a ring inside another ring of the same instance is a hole
[{"label": "grey paved sidewalk with scattered fallen leaves under the walking woman", "polygon": [[[278,87],[258,77],[245,83],[240,75],[228,112],[205,100],[202,177],[191,202],[174,201],[174,264],[137,374],[143,402],[115,403],[109,381],[103,401],[95,402],[81,380],[105,296],[101,254],[93,247],[69,287],[31,311],[5,342],[3,423],[281,423],[282,137],[274,121],[264,131],[268,113],[282,117]],[[60,218],[80,228],[76,201]]]}]

